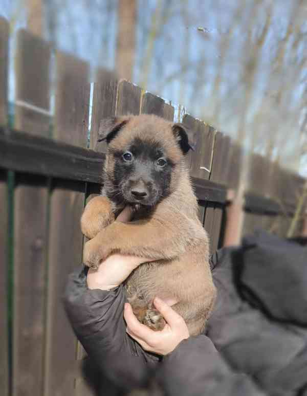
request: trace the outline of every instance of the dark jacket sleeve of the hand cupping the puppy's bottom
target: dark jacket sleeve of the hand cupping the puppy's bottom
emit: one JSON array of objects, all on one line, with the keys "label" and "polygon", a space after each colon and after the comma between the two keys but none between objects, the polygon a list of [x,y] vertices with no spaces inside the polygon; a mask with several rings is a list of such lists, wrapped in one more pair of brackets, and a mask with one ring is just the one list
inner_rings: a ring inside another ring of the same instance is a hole
[{"label": "dark jacket sleeve of the hand cupping the puppy's bottom", "polygon": [[182,341],[166,356],[157,381],[168,396],[264,396],[244,373],[231,370],[205,335]]}]

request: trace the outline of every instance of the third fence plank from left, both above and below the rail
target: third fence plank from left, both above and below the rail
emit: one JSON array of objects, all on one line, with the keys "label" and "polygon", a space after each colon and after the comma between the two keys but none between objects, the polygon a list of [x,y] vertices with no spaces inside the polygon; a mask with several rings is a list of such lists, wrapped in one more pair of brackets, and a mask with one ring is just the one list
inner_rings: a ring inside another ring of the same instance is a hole
[{"label": "third fence plank from left, both above and below the rail", "polygon": [[[56,53],[54,137],[87,145],[90,83],[88,65]],[[77,341],[65,315],[61,296],[67,275],[82,261],[79,227],[84,206],[83,183],[53,181],[50,196],[49,271],[44,396],[73,395]],[[69,215],[68,215],[69,214]],[[56,347],[55,347],[56,345]],[[85,396],[85,395],[84,395]]]}]

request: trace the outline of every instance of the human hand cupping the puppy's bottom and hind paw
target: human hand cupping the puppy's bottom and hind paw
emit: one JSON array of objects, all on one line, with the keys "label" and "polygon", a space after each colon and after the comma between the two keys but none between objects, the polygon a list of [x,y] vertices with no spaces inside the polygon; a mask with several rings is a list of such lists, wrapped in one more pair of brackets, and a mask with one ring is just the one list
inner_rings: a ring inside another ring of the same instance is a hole
[{"label": "human hand cupping the puppy's bottom and hind paw", "polygon": [[125,303],[124,318],[127,324],[126,332],[136,340],[144,350],[159,355],[167,355],[173,351],[177,345],[189,338],[188,327],[177,312],[175,312],[163,300],[156,297],[153,300],[157,310],[163,315],[166,325],[160,332],[155,332],[141,324],[135,317],[131,305]]}]

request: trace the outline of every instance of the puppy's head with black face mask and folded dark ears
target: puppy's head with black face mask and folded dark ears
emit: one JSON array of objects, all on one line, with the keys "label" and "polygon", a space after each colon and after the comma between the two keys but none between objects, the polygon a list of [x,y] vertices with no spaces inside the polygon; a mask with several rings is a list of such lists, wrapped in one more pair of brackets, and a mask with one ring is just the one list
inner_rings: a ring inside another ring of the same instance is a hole
[{"label": "puppy's head with black face mask and folded dark ears", "polygon": [[153,115],[103,120],[106,193],[117,205],[155,206],[176,189],[191,148],[182,124]]}]

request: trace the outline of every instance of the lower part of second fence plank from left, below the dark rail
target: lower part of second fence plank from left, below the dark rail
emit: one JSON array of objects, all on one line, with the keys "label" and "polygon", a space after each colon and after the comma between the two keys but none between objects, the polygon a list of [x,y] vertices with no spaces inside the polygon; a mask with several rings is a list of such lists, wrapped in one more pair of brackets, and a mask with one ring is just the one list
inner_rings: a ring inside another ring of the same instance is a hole
[{"label": "lower part of second fence plank from left, below the dark rail", "polygon": [[[45,342],[47,180],[16,177],[13,395],[41,395]],[[31,287],[30,287],[31,285]]]}]

